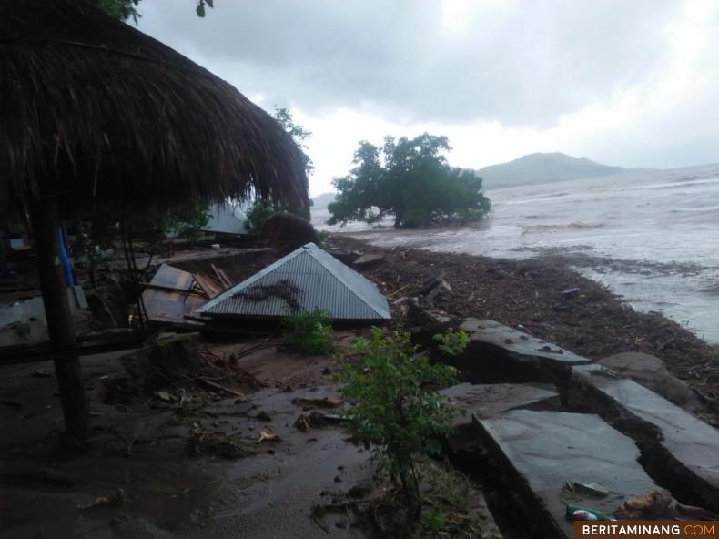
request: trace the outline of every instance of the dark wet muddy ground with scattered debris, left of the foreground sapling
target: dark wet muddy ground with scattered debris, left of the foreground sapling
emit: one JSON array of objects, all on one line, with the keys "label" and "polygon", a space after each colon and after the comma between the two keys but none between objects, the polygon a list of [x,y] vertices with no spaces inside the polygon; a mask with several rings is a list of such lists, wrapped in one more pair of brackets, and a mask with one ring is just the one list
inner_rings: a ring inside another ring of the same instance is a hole
[{"label": "dark wet muddy ground with scattered debris, left of the foreground sapling", "polygon": [[277,344],[166,334],[86,356],[82,449],[63,446],[52,363],[1,367],[0,537],[364,536],[341,504],[313,518],[374,473],[319,421],[343,405],[334,363]]}]

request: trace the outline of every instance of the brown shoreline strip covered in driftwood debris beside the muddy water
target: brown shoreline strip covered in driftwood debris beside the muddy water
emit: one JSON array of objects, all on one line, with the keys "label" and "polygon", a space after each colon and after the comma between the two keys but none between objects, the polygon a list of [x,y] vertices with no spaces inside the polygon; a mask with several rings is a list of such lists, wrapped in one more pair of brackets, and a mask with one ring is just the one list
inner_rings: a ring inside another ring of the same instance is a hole
[{"label": "brown shoreline strip covered in driftwood debris beside the muddy water", "polygon": [[[572,269],[568,259],[385,248],[348,234],[330,235],[329,244],[383,257],[360,272],[378,285],[393,309],[393,303],[419,295],[427,281],[442,276],[453,293],[447,314],[496,320],[592,361],[624,351],[651,354],[694,390],[706,419],[719,420],[719,346],[662,313],[634,310],[603,284]],[[573,288],[581,290],[581,297],[562,299],[562,291]]]}]

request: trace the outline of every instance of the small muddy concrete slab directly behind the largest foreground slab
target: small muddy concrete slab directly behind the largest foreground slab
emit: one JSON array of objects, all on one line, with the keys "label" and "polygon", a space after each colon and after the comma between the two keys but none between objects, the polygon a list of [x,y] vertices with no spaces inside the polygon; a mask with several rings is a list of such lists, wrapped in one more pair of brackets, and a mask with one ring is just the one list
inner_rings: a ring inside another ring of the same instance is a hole
[{"label": "small muddy concrete slab directly behind the largest foreground slab", "polygon": [[463,414],[457,415],[452,421],[454,435],[451,436],[450,444],[454,451],[475,441],[472,416],[488,419],[510,410],[559,398],[557,392],[519,383],[465,382],[443,389],[440,393],[449,397],[457,408],[463,411]]}]

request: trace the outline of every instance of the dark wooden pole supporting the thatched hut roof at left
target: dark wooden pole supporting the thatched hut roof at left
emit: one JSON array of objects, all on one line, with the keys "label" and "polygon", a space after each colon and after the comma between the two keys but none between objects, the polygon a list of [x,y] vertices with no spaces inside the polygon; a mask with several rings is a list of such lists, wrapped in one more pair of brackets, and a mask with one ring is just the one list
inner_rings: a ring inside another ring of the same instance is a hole
[{"label": "dark wooden pole supporting the thatched hut roof at left", "polygon": [[85,440],[90,432],[90,414],[80,361],[75,351],[75,329],[60,261],[57,200],[36,200],[31,206],[31,219],[37,247],[37,273],[43,292],[66,432],[76,440]]}]

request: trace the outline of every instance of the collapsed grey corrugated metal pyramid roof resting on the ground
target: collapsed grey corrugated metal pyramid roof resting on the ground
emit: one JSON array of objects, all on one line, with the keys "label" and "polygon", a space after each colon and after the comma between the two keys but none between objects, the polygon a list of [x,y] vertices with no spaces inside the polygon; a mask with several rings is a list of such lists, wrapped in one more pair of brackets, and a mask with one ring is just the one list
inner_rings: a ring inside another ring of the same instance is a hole
[{"label": "collapsed grey corrugated metal pyramid roof resting on the ground", "polygon": [[252,300],[244,293],[283,282],[299,290],[299,310],[327,310],[334,320],[390,320],[390,307],[380,290],[314,243],[278,259],[248,280],[225,290],[198,310],[208,316],[281,318],[296,312],[287,300],[268,296]]}]

